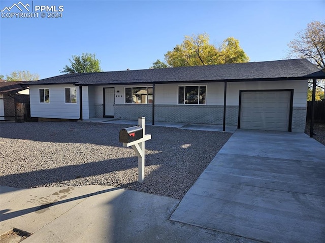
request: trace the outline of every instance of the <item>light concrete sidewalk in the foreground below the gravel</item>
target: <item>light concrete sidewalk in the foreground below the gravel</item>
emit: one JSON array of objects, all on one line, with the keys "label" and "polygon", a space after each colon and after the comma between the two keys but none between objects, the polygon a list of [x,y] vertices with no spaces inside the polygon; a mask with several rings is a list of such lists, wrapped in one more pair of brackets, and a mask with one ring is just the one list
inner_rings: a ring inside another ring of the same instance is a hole
[{"label": "light concrete sidewalk in the foreground below the gravel", "polygon": [[[168,220],[179,200],[109,186],[0,187],[1,231],[28,242],[256,241]],[[18,241],[6,241],[18,242]]]}]

